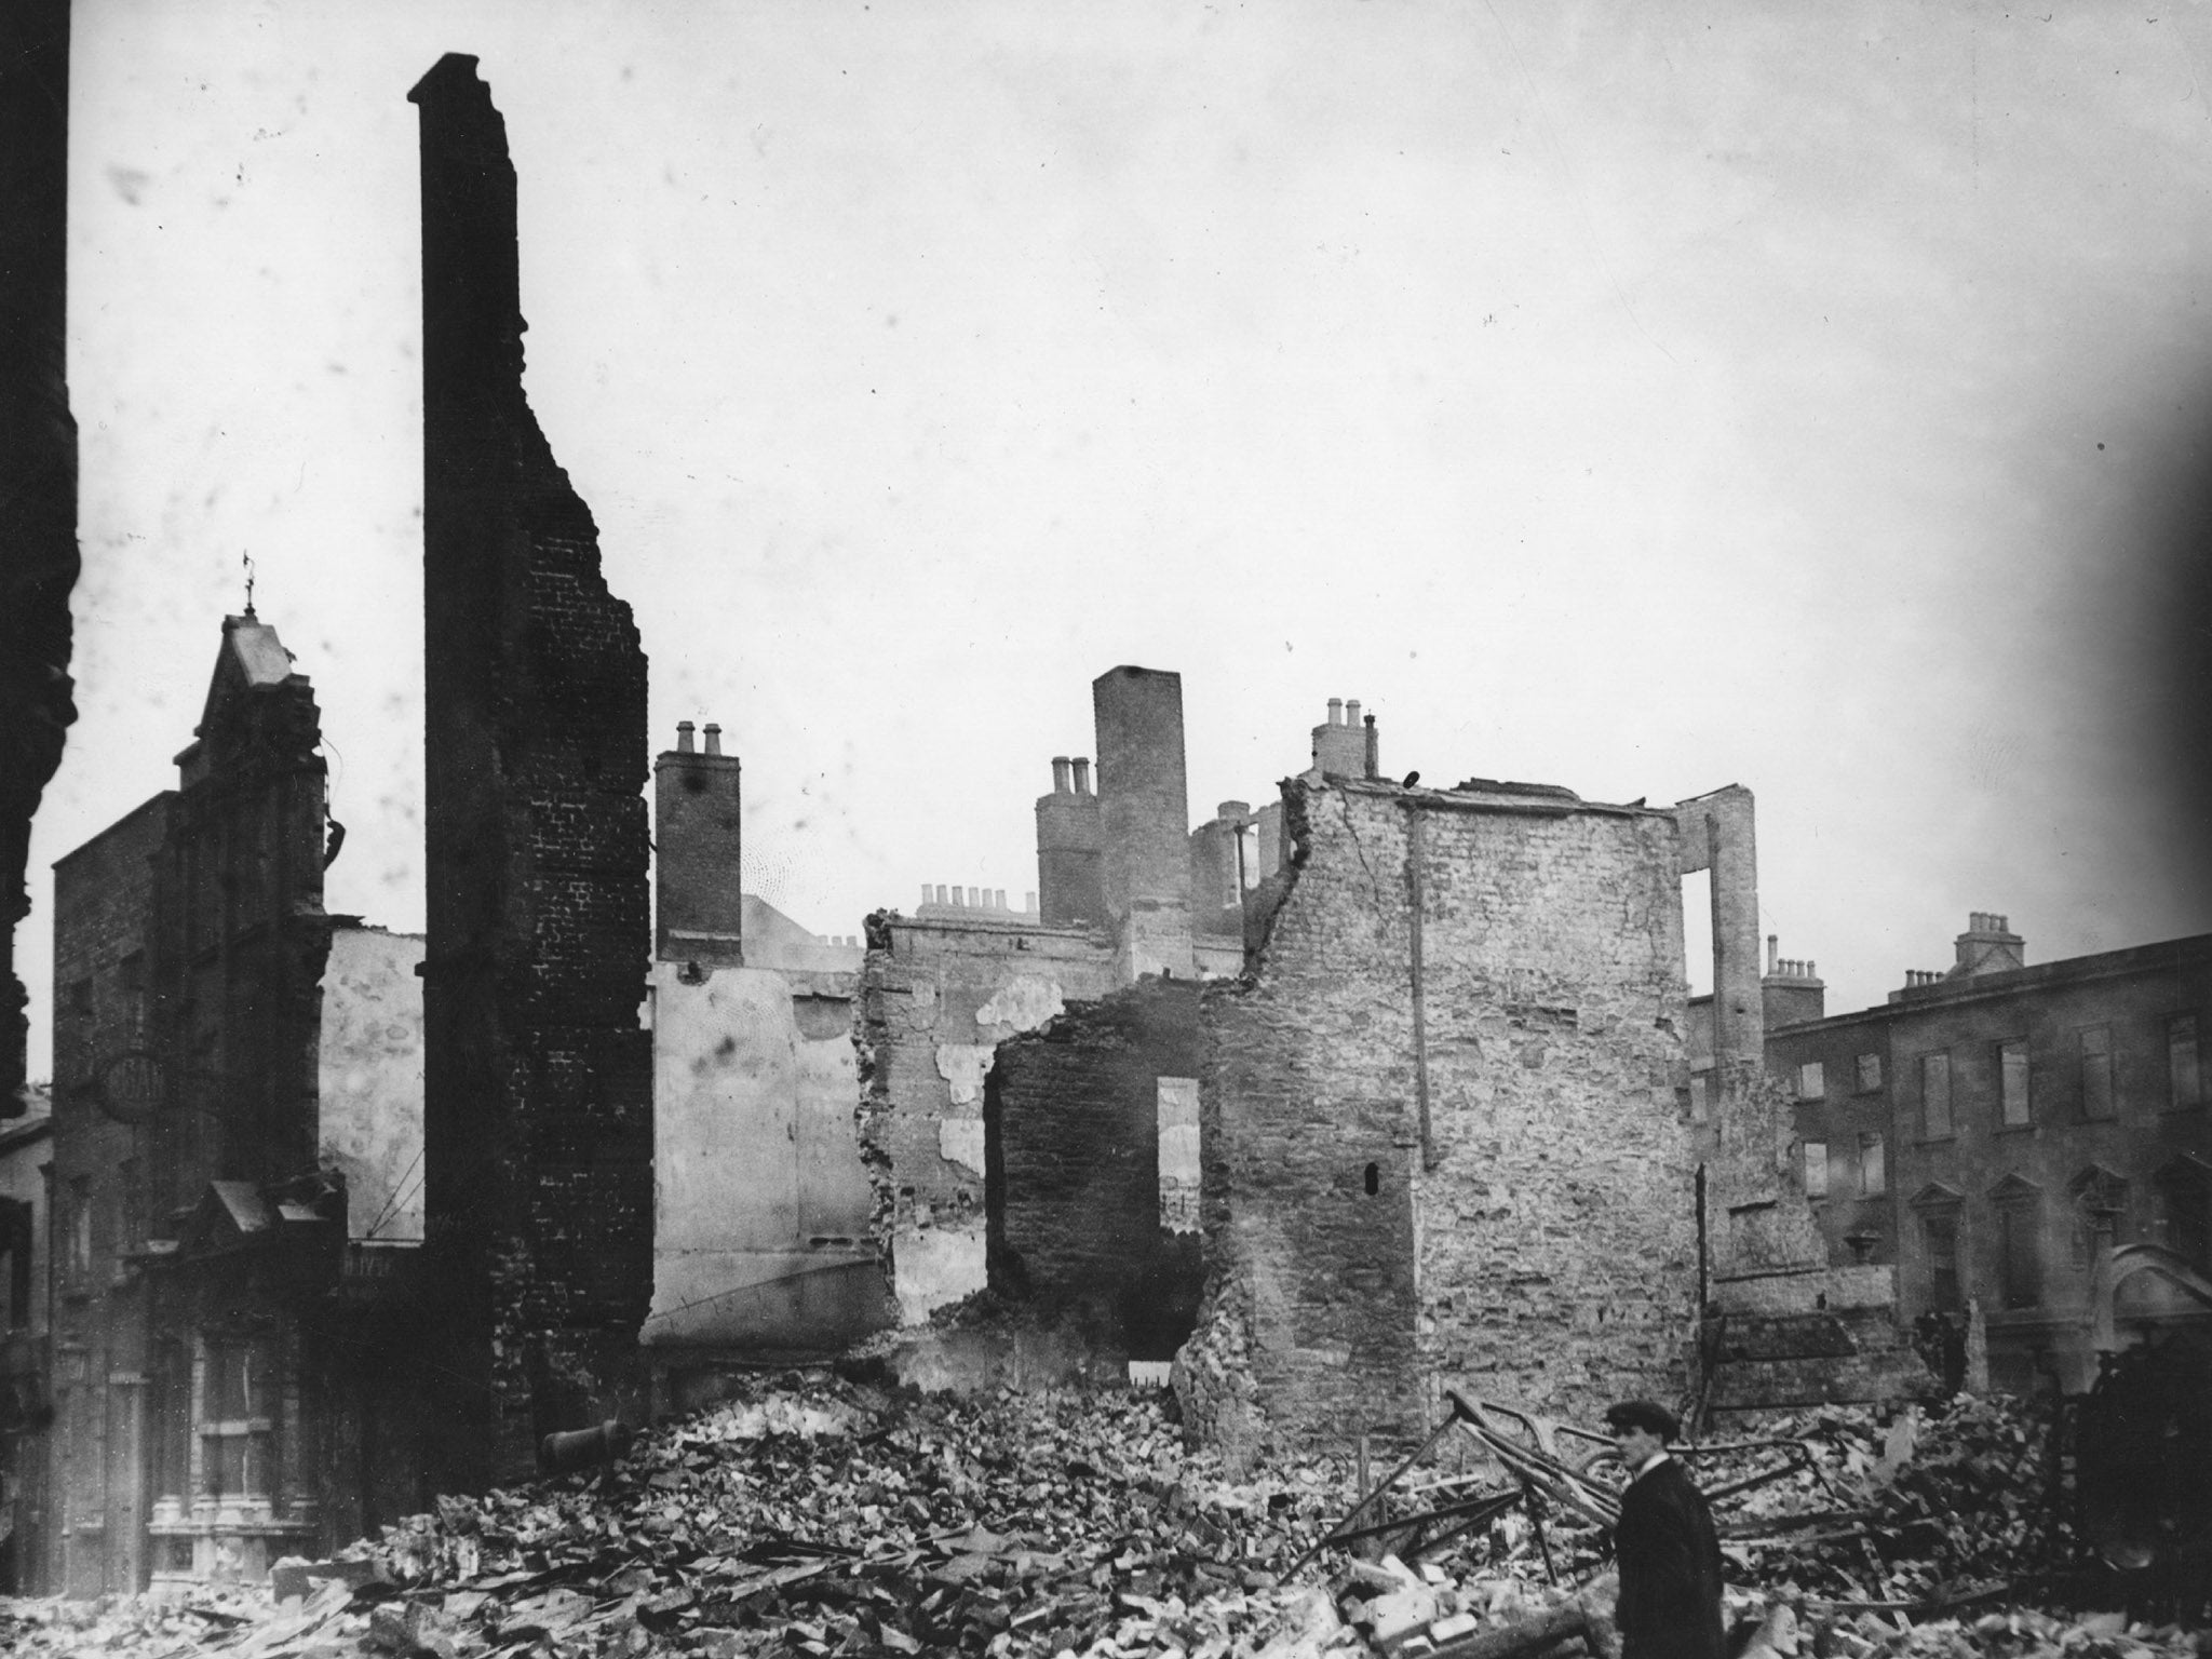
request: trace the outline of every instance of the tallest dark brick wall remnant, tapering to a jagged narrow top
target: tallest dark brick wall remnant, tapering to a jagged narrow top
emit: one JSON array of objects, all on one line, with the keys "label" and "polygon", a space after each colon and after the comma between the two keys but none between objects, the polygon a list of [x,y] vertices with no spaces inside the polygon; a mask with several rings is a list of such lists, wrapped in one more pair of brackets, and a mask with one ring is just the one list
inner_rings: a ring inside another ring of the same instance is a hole
[{"label": "tallest dark brick wall remnant, tapering to a jagged narrow top", "polygon": [[427,1245],[440,1475],[602,1416],[653,1287],[646,655],[522,392],[515,170],[476,60],[422,124]]}]

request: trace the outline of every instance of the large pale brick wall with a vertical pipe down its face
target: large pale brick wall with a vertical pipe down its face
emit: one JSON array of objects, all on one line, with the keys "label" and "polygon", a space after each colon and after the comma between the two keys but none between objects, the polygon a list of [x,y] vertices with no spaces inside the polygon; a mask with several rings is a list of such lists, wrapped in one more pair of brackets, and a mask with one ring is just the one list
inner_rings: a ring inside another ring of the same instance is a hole
[{"label": "large pale brick wall with a vertical pipe down its face", "polygon": [[1672,818],[1511,787],[1283,801],[1256,969],[1203,1004],[1192,1420],[1237,1447],[1413,1429],[1442,1383],[1557,1413],[1681,1396]]}]

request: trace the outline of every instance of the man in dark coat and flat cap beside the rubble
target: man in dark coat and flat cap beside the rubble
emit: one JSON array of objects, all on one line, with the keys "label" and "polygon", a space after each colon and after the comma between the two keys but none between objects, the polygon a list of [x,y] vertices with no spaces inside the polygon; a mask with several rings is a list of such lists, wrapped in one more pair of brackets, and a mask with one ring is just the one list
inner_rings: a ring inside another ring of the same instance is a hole
[{"label": "man in dark coat and flat cap beside the rubble", "polygon": [[1606,1411],[1606,1427],[1628,1467],[1621,1524],[1613,1533],[1621,1659],[1725,1659],[1712,1509],[1666,1451],[1681,1425],[1663,1405],[1624,1400]]}]

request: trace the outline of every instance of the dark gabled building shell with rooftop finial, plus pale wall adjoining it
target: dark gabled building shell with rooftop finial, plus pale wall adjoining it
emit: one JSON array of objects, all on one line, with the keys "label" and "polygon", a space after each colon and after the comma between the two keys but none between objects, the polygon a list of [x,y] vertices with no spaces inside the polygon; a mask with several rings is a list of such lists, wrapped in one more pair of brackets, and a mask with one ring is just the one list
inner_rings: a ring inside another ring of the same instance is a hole
[{"label": "dark gabled building shell with rooftop finial, plus pale wall adjoining it", "polygon": [[380,1325],[420,945],[323,914],[319,743],[276,630],[228,617],[177,787],[55,865],[51,1590],[252,1577],[422,1498]]}]

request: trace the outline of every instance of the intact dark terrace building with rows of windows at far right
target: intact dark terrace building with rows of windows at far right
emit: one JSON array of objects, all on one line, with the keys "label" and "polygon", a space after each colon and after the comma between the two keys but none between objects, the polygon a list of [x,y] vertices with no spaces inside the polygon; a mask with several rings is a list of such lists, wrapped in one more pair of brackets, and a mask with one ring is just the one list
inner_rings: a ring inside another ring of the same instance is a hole
[{"label": "intact dark terrace building with rows of windows at far right", "polygon": [[[2101,1237],[2212,1274],[2212,936],[2028,967],[1978,911],[1949,971],[1905,978],[1767,1033],[1832,1259],[1893,1263],[1907,1325],[1980,1307],[1993,1387],[2081,1389]],[[2203,1318],[2119,1296],[2121,1332]]]}]

